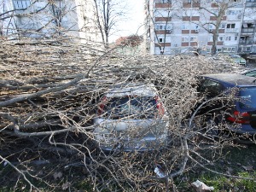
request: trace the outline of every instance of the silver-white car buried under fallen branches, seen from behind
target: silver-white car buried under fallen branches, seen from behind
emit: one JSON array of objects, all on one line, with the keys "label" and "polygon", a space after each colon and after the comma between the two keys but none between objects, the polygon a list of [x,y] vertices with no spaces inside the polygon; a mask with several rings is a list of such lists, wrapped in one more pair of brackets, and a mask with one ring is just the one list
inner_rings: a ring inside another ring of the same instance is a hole
[{"label": "silver-white car buried under fallen branches, seen from behind", "polygon": [[169,125],[154,84],[121,84],[102,96],[94,119],[95,141],[103,150],[163,148]]}]

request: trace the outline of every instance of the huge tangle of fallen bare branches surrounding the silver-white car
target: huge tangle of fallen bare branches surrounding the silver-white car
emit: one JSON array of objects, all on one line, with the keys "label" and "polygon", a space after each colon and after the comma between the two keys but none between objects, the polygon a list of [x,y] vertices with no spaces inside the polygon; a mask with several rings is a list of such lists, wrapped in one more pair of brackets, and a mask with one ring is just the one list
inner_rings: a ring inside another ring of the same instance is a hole
[{"label": "huge tangle of fallen bare branches surrounding the silver-white car", "polygon": [[[188,148],[187,140],[194,143],[197,134],[184,128],[183,119],[201,100],[195,77],[231,73],[228,62],[191,55],[120,55],[119,48],[102,51],[90,44],[1,42],[0,46],[0,160],[12,166],[31,189],[37,188],[31,177],[59,189],[46,177],[57,179],[54,173],[59,168],[79,165],[97,190],[162,190],[172,177],[199,164],[197,159],[204,160],[198,155],[187,166],[189,151],[201,147],[197,143]],[[163,98],[172,145],[157,153],[105,154],[91,133],[97,102],[114,84],[138,81],[155,84]],[[58,166],[43,174],[29,169],[32,162]],[[168,172],[166,177],[156,177],[156,164]],[[12,179],[20,177],[4,176],[0,183]],[[67,186],[72,189],[72,182]]]}]

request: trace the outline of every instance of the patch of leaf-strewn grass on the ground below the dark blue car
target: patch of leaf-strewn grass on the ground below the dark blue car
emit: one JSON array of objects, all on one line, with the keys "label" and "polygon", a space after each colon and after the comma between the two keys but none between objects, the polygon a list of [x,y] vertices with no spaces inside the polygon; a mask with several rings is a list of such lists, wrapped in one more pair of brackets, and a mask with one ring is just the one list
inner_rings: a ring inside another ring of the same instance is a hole
[{"label": "patch of leaf-strewn grass on the ground below the dark blue car", "polygon": [[200,180],[207,186],[214,187],[214,191],[256,191],[256,145],[244,146],[243,148],[225,148],[222,152],[224,157],[219,159],[212,166],[207,166],[213,171],[231,174],[240,177],[252,177],[255,180],[225,177],[212,172],[207,172],[201,167],[186,172],[183,177],[187,179],[180,182],[182,177],[175,180],[179,191],[193,191],[190,183]]}]

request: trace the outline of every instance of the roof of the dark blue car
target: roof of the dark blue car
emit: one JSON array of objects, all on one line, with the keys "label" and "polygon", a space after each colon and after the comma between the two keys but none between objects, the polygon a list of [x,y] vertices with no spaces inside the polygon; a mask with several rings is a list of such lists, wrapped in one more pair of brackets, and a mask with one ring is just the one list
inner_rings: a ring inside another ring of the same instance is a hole
[{"label": "roof of the dark blue car", "polygon": [[256,86],[256,78],[235,73],[214,73],[201,75],[203,78],[221,81],[232,86]]}]

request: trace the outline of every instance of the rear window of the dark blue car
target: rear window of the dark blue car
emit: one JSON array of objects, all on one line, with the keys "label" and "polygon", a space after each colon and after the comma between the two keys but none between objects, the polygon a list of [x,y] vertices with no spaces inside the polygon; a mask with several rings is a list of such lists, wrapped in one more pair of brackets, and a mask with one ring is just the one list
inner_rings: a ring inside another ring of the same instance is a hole
[{"label": "rear window of the dark blue car", "polygon": [[240,108],[242,109],[256,109],[256,87],[242,88],[239,91]]}]

